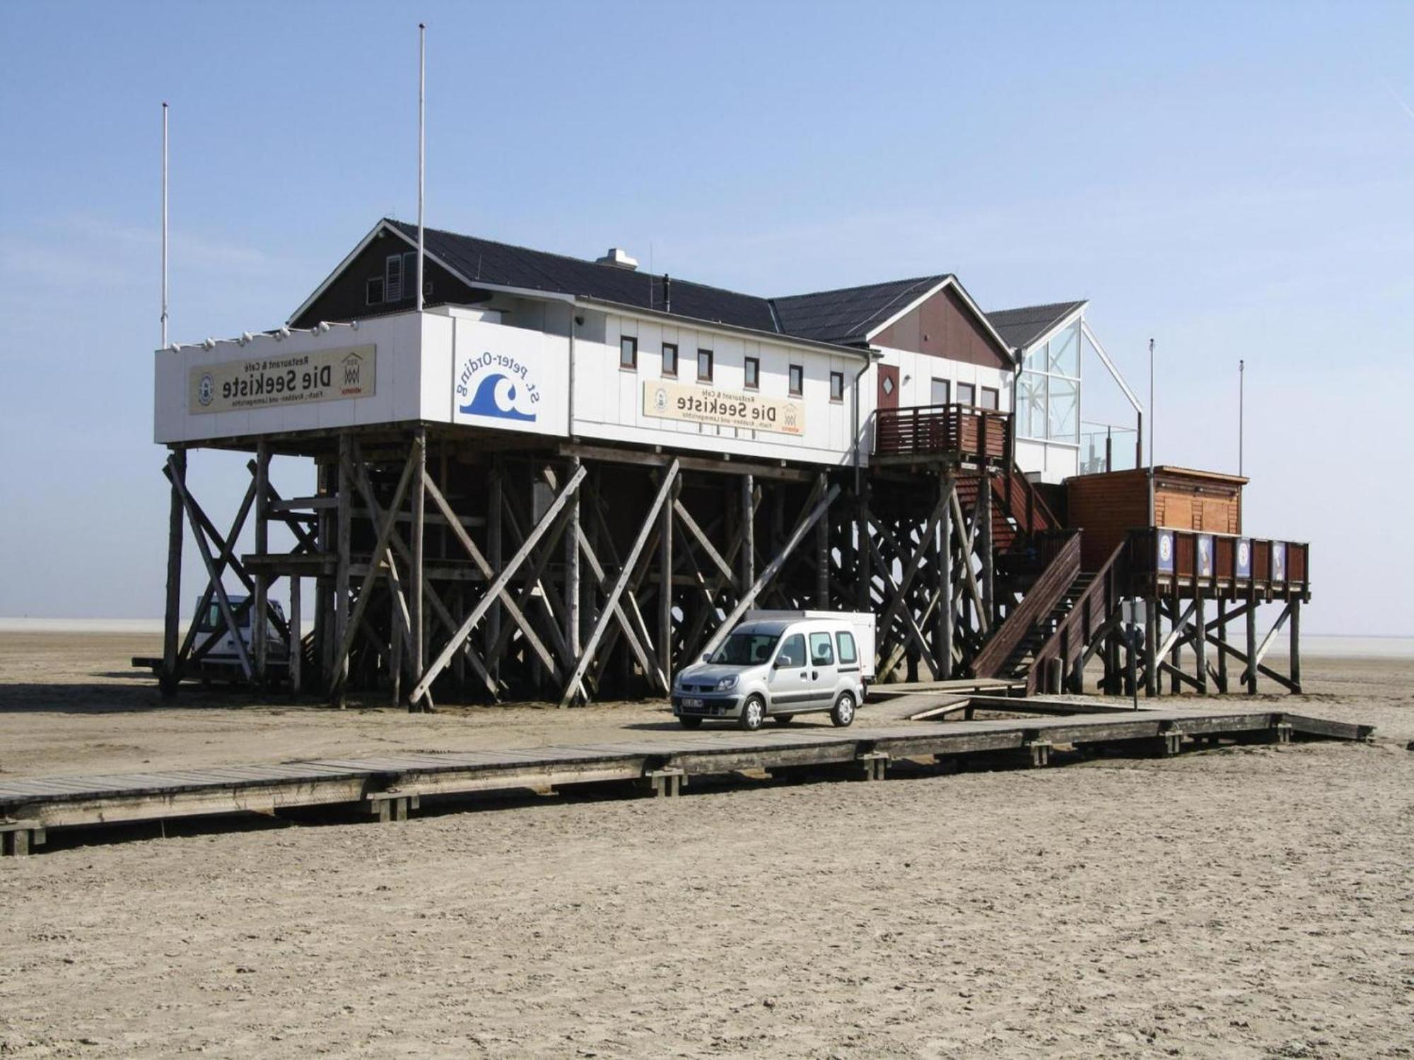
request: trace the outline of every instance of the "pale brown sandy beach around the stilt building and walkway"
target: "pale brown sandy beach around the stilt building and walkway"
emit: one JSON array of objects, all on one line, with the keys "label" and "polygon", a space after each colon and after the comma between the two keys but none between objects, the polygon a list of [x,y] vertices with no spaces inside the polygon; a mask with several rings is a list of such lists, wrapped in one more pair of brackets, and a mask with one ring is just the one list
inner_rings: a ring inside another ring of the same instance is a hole
[{"label": "pale brown sandy beach around the stilt building and walkway", "polygon": [[[0,770],[673,731],[174,708],[153,650],[0,636]],[[1304,663],[1271,702],[1374,745],[54,832],[0,862],[0,1056],[1414,1056],[1414,664]]]}]

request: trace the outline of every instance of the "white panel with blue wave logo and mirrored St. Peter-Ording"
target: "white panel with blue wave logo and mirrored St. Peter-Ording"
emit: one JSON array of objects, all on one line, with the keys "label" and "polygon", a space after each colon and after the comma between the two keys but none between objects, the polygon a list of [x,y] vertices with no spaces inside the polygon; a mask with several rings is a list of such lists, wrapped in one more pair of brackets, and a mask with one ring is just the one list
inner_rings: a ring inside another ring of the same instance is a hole
[{"label": "white panel with blue wave logo and mirrored St. Peter-Ording", "polygon": [[568,372],[563,338],[485,321],[455,322],[452,423],[564,434]]}]

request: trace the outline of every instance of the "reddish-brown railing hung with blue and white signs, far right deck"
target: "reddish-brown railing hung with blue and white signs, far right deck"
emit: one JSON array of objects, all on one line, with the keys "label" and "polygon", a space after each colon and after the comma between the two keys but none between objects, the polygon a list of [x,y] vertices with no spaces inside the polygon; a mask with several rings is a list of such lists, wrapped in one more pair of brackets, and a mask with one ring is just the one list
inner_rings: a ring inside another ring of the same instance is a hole
[{"label": "reddish-brown railing hung with blue and white signs, far right deck", "polygon": [[1213,595],[1237,588],[1311,592],[1311,546],[1266,537],[1147,527],[1130,531],[1130,572],[1181,582]]}]

